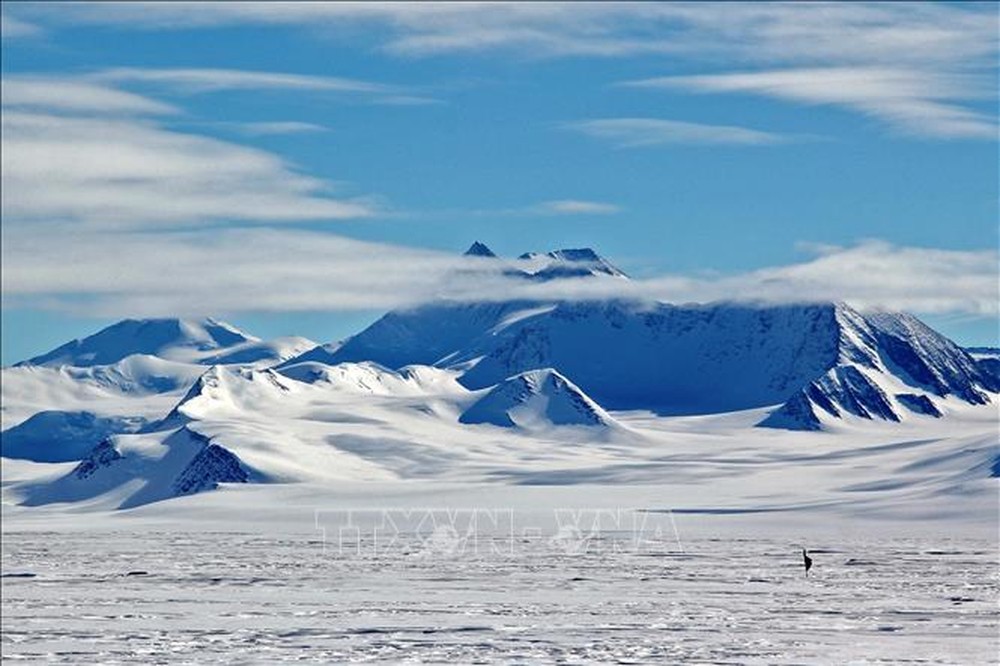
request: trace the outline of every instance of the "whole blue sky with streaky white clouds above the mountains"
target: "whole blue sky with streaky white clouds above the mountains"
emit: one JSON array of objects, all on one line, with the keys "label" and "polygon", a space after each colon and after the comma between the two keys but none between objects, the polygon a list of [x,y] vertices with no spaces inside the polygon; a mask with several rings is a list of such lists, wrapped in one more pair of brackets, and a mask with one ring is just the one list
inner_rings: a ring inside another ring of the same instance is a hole
[{"label": "whole blue sky with streaky white clouds above the mountains", "polygon": [[4,363],[125,316],[338,339],[477,239],[997,344],[995,4],[3,12]]}]

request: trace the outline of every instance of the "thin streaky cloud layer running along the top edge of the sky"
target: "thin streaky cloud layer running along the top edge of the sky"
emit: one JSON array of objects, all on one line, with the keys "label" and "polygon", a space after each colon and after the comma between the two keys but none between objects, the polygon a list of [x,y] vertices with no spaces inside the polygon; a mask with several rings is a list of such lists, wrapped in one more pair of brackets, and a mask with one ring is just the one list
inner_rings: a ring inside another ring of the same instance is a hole
[{"label": "thin streaky cloud layer running along the top edge of the sky", "polygon": [[[26,12],[27,13],[27,12]],[[81,2],[31,7],[52,24],[132,29],[367,28],[401,55],[516,50],[522,56],[667,53],[716,62],[942,63],[997,51],[988,3]],[[355,35],[357,36],[357,35]]]}]

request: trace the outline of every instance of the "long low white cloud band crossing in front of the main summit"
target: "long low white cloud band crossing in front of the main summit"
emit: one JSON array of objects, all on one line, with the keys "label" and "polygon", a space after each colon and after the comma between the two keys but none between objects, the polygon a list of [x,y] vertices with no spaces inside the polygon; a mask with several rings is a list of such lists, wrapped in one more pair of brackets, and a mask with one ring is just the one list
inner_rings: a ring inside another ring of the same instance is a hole
[{"label": "long low white cloud band crossing in front of the main summit", "polygon": [[[58,238],[58,241],[54,239]],[[859,307],[996,316],[998,254],[869,241],[727,276],[535,283],[500,260],[300,230],[121,232],[16,228],[3,238],[5,307],[104,316],[370,310],[447,297],[667,302],[844,300]],[[461,270],[462,279],[455,279]]]}]

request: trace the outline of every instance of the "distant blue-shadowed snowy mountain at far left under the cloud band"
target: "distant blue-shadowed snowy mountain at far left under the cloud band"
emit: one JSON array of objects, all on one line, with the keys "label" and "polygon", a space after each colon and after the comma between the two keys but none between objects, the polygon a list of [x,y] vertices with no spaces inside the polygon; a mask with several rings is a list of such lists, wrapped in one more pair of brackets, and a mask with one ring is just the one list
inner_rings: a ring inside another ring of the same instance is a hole
[{"label": "distant blue-shadowed snowy mountain at far left under the cloud band", "polygon": [[125,319],[18,365],[110,365],[133,354],[192,361],[251,341],[257,338],[214,319]]}]

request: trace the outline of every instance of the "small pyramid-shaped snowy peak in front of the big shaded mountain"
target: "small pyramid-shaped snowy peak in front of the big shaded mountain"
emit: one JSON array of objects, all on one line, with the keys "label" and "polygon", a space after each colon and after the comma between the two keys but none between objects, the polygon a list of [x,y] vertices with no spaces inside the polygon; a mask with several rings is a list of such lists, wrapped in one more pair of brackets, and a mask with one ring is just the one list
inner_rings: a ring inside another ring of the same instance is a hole
[{"label": "small pyramid-shaped snowy peak in front of the big shaded mountain", "polygon": [[551,368],[508,377],[469,407],[459,421],[526,429],[616,425],[600,405]]}]

